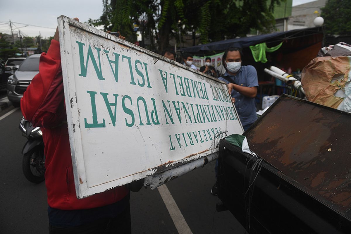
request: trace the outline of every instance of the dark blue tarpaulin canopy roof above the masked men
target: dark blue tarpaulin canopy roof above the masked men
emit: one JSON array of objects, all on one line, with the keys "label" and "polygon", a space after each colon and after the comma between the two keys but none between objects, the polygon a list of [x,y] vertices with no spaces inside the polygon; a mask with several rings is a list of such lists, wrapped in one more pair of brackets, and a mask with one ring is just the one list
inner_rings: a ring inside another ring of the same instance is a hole
[{"label": "dark blue tarpaulin canopy roof above the masked men", "polygon": [[295,29],[285,32],[276,32],[270,34],[263,34],[257,36],[249,36],[245,38],[234,38],[223,41],[211,42],[204,45],[191,46],[180,49],[180,51],[188,52],[188,53],[201,53],[208,51],[225,51],[231,47],[239,47],[245,48],[252,45],[256,45],[262,42],[281,42],[284,40],[289,40],[293,38],[299,38],[307,35],[323,33],[322,27],[314,27],[314,28],[303,28],[303,29]]}]

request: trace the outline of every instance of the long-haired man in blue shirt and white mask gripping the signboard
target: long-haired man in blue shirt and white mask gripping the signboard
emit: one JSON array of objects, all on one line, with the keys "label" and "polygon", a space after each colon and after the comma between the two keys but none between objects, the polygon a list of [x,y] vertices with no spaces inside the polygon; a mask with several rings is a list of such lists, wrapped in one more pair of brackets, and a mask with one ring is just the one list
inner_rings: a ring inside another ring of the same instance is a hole
[{"label": "long-haired man in blue shirt and white mask gripping the signboard", "polygon": [[240,48],[227,49],[222,58],[226,72],[218,79],[227,83],[241,124],[246,131],[257,120],[255,97],[258,80],[253,66],[241,66],[242,55]]}]

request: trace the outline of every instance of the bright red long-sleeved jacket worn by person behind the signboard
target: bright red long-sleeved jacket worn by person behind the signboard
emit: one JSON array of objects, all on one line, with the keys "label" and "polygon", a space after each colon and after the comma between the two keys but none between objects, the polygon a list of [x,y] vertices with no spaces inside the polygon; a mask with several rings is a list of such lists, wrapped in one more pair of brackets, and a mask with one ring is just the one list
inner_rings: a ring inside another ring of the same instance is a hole
[{"label": "bright red long-sleeved jacket worn by person behind the signboard", "polygon": [[45,145],[45,184],[48,204],[62,210],[90,209],[110,205],[128,194],[125,186],[77,199],[68,140],[62,81],[60,45],[51,41],[42,53],[37,74],[21,99],[21,110],[33,126],[39,126]]}]

